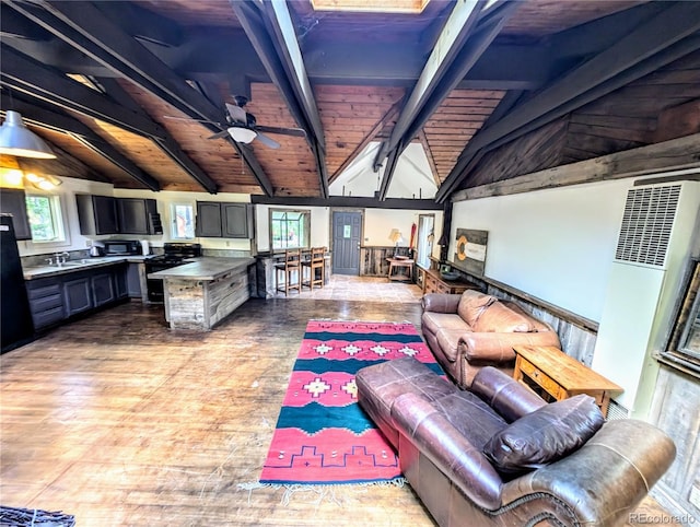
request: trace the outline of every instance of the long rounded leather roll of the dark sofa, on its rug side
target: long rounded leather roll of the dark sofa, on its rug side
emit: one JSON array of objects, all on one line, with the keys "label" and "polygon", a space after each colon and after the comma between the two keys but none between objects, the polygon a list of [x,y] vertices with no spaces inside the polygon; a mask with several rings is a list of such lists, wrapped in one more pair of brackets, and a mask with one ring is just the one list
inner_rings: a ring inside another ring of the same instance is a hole
[{"label": "long rounded leather roll of the dark sofa, on its rug side", "polygon": [[[501,504],[501,477],[428,400],[417,394],[399,396],[392,407],[399,434],[410,441],[471,501],[488,510]],[[399,459],[400,441],[399,441]]]}]

